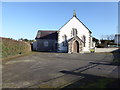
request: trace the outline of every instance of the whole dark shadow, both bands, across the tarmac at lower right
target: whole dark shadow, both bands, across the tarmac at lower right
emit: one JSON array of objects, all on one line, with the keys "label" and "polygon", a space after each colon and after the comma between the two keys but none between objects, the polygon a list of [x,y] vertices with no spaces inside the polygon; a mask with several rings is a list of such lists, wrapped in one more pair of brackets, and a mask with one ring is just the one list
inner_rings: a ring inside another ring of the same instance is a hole
[{"label": "whole dark shadow, both bands, across the tarmac at lower right", "polygon": [[[115,78],[107,78],[102,76],[90,75],[82,73],[88,69],[96,67],[98,65],[107,65],[107,66],[119,66],[120,65],[120,49],[111,52],[113,54],[113,61],[106,63],[106,62],[90,62],[89,65],[80,67],[73,71],[66,71],[62,70],[61,73],[81,76],[84,77],[66,87],[65,88],[119,88],[120,79]],[[79,70],[80,69],[80,70]],[[78,72],[76,72],[78,70]]]}]

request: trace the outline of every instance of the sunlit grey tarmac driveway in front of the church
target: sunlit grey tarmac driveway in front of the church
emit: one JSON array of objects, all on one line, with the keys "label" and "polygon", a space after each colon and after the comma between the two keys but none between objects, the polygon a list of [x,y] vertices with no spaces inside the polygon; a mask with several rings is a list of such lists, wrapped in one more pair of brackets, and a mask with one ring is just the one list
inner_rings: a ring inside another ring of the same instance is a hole
[{"label": "sunlit grey tarmac driveway in front of the church", "polygon": [[78,70],[86,74],[110,76],[117,66],[93,63],[109,64],[112,60],[113,55],[110,53],[67,54],[37,52],[13,60],[3,61],[3,88],[39,86],[43,82],[66,75],[62,71]]}]

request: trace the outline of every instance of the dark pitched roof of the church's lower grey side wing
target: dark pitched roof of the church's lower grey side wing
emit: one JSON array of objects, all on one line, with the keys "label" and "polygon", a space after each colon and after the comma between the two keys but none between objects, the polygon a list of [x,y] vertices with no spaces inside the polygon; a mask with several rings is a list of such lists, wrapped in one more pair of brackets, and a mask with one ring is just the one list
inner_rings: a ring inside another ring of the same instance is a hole
[{"label": "dark pitched roof of the church's lower grey side wing", "polygon": [[57,33],[57,31],[39,30],[37,32],[37,36],[36,36],[35,39],[53,39],[53,40],[57,40],[58,39],[58,33]]}]

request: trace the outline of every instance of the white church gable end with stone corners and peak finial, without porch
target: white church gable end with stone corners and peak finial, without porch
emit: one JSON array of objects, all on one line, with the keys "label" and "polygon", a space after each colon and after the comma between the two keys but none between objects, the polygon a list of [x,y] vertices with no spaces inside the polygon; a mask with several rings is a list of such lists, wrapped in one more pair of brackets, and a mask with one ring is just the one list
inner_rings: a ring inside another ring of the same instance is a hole
[{"label": "white church gable end with stone corners and peak finial, without porch", "polygon": [[[90,50],[90,36],[91,31],[77,18],[76,12],[74,11],[73,17],[64,24],[58,31],[58,50],[61,52],[69,52],[70,45],[68,44],[68,47],[66,48],[62,43],[64,42],[64,39],[62,37],[64,35],[67,35],[67,40],[72,39],[73,37],[78,37],[80,40],[83,40],[82,42],[82,50],[79,50],[81,52],[89,52]],[[84,38],[83,38],[84,36]],[[78,43],[76,41],[76,46],[78,46]],[[71,45],[72,46],[72,45]]]}]

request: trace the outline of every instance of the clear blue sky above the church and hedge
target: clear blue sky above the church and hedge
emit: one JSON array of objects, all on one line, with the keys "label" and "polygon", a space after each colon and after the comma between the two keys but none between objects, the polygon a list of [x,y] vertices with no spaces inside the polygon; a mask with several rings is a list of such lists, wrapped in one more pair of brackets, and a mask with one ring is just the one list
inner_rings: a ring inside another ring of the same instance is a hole
[{"label": "clear blue sky above the church and hedge", "polygon": [[1,36],[33,40],[38,30],[59,30],[74,10],[93,37],[118,33],[117,2],[3,2]]}]

